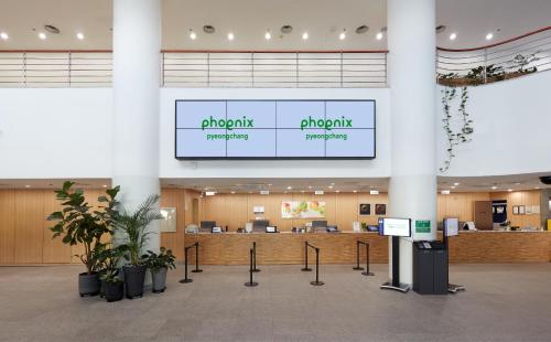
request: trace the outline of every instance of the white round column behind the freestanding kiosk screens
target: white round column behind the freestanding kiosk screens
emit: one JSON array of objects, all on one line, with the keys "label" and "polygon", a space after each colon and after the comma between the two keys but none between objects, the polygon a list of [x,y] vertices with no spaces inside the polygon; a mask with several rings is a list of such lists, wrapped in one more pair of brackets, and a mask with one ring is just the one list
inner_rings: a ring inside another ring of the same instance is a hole
[{"label": "white round column behind the freestanding kiosk screens", "polygon": [[[415,241],[436,235],[435,17],[435,0],[388,1],[389,215],[410,217]],[[431,232],[415,233],[415,221],[425,220]],[[413,282],[407,238],[400,239],[400,281]]]}]

